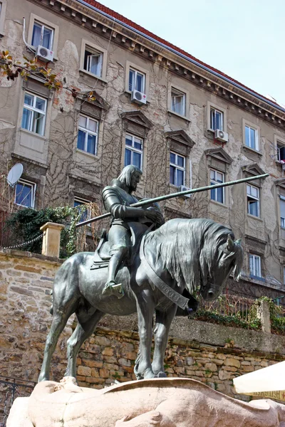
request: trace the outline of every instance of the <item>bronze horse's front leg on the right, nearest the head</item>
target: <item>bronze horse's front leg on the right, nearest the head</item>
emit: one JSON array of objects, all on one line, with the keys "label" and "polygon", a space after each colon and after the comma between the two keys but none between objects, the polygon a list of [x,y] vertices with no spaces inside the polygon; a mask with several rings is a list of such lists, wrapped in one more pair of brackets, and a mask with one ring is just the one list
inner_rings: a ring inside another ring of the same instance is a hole
[{"label": "bronze horse's front leg on the right, nearest the head", "polygon": [[170,325],[175,317],[176,310],[177,305],[173,304],[165,312],[156,311],[155,352],[152,361],[152,371],[155,376],[166,376],[164,367],[165,349],[170,332]]}]

